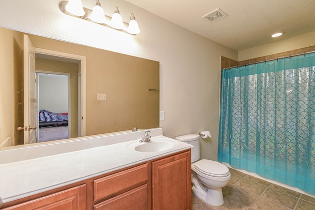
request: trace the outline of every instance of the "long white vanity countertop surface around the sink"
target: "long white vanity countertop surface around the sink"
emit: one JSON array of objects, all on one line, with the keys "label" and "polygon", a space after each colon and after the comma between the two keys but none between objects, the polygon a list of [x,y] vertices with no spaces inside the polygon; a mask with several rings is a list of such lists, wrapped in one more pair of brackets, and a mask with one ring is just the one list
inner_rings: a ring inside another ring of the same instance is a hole
[{"label": "long white vanity countertop surface around the sink", "polygon": [[178,142],[169,150],[139,152],[127,148],[134,141],[0,164],[0,197],[6,203],[192,147]]}]

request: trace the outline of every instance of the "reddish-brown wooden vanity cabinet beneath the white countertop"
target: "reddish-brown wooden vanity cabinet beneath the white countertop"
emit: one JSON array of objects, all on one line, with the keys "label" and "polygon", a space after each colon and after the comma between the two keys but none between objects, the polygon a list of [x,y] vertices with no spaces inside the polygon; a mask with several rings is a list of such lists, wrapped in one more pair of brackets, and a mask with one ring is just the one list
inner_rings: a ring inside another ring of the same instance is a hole
[{"label": "reddish-brown wooden vanity cabinet beneath the white countertop", "polygon": [[2,208],[4,210],[191,210],[190,179],[189,149],[4,203]]}]

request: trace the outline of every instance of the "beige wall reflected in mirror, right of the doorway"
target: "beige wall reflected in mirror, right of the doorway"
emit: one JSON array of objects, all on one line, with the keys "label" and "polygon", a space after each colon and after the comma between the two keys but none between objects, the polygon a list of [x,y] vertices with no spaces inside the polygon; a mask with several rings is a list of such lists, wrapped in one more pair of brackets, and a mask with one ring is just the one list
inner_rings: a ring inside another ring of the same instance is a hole
[{"label": "beige wall reflected in mirror, right of the doorway", "polygon": [[[148,90],[159,89],[159,62],[95,48],[89,54],[86,134],[158,127],[159,92]],[[97,93],[107,99],[96,100]]]}]

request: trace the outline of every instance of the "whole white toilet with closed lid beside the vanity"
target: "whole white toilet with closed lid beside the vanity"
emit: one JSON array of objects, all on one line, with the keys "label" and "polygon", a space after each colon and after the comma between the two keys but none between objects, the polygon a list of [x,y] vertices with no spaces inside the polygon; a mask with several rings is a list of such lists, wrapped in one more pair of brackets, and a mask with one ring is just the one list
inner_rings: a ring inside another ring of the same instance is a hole
[{"label": "whole white toilet with closed lid beside the vanity", "polygon": [[192,193],[213,206],[220,206],[224,203],[222,187],[231,179],[231,174],[222,163],[206,159],[198,161],[200,158],[199,138],[198,134],[187,134],[175,139],[193,146],[191,148]]}]

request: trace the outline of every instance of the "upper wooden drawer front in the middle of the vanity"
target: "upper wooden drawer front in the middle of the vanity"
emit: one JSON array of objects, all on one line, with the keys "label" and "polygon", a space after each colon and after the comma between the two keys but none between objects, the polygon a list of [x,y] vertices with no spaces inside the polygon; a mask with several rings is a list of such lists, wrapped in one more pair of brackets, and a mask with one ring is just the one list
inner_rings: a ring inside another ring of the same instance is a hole
[{"label": "upper wooden drawer front in the middle of the vanity", "polygon": [[148,180],[148,164],[94,180],[94,201],[124,192]]}]

